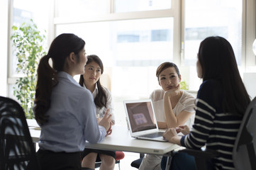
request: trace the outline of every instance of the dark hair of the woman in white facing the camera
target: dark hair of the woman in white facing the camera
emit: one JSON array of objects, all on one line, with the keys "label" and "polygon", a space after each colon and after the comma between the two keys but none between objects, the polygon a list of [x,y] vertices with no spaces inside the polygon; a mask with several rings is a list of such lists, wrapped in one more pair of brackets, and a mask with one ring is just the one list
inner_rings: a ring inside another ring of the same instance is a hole
[{"label": "dark hair of the woman in white facing the camera", "polygon": [[[103,72],[104,72],[103,63],[102,63],[101,59],[98,56],[88,55],[87,59],[88,59],[87,64],[89,64],[90,62],[96,62],[97,64],[99,64],[99,67],[101,67],[101,74],[103,74]],[[80,75],[79,84],[81,86],[83,86],[83,84],[84,84],[83,74]],[[98,108],[102,108],[102,107],[106,108],[106,102],[107,102],[106,92],[104,91],[104,89],[101,85],[101,82],[99,80],[96,82],[96,86],[98,87],[98,92],[99,93],[94,98],[94,103]]]}]

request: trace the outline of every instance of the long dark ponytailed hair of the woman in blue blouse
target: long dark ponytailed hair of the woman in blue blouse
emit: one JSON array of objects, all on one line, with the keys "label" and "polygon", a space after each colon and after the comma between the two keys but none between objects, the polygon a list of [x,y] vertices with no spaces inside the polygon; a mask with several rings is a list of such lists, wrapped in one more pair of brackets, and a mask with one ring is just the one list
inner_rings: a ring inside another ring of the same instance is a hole
[{"label": "long dark ponytailed hair of the woman in blue blouse", "polygon": [[[38,82],[35,88],[35,120],[40,125],[48,121],[45,113],[50,108],[52,88],[57,85],[57,72],[64,69],[66,58],[71,52],[79,61],[79,52],[84,48],[85,42],[74,34],[61,34],[52,41],[48,55],[40,59],[38,64]],[[52,59],[50,67],[49,59]]]}]

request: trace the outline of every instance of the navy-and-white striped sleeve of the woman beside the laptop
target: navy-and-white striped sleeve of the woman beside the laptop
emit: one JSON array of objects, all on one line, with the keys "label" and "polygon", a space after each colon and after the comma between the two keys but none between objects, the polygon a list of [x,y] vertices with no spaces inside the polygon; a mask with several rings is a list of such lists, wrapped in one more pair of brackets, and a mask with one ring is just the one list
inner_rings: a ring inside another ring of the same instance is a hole
[{"label": "navy-and-white striped sleeve of the woman beside the laptop", "polygon": [[209,84],[204,84],[199,89],[199,95],[196,99],[196,117],[193,128],[189,135],[182,137],[181,140],[181,145],[184,147],[201,148],[208,140],[209,133],[213,128],[213,119],[216,113],[211,102],[211,94],[208,93],[211,90],[212,87],[209,86]]}]

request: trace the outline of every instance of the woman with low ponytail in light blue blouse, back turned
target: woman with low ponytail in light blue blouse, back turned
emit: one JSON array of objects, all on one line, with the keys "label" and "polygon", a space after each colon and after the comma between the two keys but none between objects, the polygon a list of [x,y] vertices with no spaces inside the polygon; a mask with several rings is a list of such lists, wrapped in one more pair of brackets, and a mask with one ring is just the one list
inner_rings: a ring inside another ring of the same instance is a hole
[{"label": "woman with low ponytail in light blue blouse, back turned", "polygon": [[38,64],[34,113],[41,128],[37,154],[43,170],[81,169],[85,141],[101,142],[111,132],[111,115],[98,125],[91,92],[73,79],[84,74],[84,45],[77,35],[61,34]]}]

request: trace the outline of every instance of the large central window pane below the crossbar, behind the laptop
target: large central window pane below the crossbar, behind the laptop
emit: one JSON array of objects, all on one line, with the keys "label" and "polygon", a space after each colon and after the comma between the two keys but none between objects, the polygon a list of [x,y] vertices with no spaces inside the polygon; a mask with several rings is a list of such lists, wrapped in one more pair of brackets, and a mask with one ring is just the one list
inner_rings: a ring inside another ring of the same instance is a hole
[{"label": "large central window pane below the crossbar, behind the laptop", "polygon": [[[173,18],[56,26],[57,35],[70,32],[85,40],[88,55],[98,55],[104,67],[111,67],[111,90],[116,96],[139,94],[148,97],[158,87],[155,79],[156,67],[162,62],[173,60]],[[138,89],[137,84],[144,88]],[[155,86],[151,87],[149,84]]]}]

